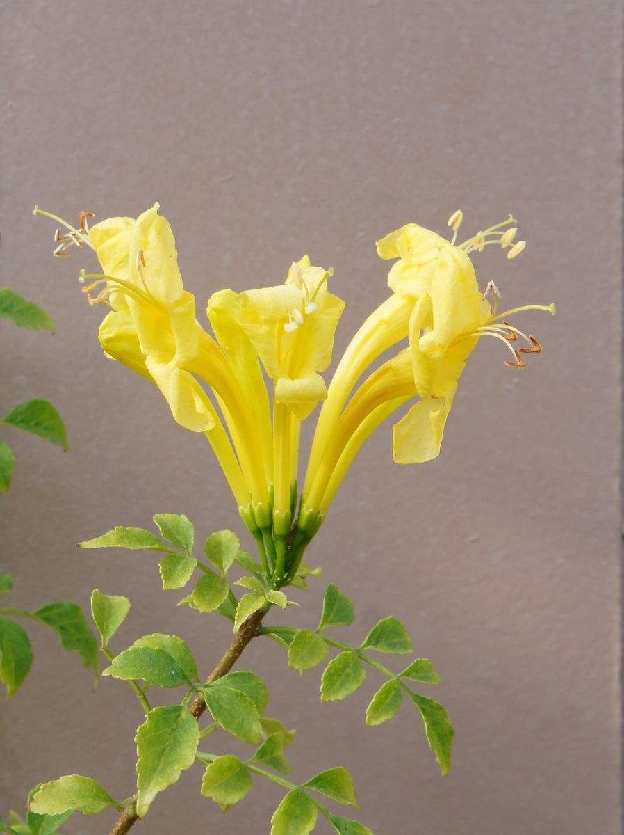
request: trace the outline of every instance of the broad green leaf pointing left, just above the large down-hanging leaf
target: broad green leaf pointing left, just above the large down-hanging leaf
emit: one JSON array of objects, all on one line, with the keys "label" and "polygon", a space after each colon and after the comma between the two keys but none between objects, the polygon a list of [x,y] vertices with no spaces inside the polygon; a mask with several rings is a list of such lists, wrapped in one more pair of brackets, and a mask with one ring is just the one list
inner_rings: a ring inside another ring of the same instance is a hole
[{"label": "broad green leaf pointing left, just above the large down-hanging leaf", "polygon": [[113,659],[102,675],[124,681],[143,679],[146,685],[157,687],[193,686],[199,681],[189,646],[175,635],[159,632],[135,640]]}]

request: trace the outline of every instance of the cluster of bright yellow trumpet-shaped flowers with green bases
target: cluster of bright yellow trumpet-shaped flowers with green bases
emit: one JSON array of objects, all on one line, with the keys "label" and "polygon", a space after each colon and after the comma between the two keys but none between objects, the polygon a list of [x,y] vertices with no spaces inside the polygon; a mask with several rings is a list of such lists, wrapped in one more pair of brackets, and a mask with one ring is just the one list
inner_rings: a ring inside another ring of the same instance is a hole
[{"label": "cluster of bright yellow trumpet-shaped flowers with green bases", "polygon": [[[377,242],[379,256],[395,261],[390,296],[355,333],[327,387],[320,372],[330,366],[345,306],[330,292],[333,270],[304,256],[289,267],[284,284],[215,292],[207,309],[211,334],[196,318],[174,235],[158,210],[154,205],[136,220],[111,218],[90,229],[90,213],[82,212],[74,228],[35,212],[68,230],[57,230],[55,255],[67,255],[72,245],[95,251],[102,272],[83,271],[81,281],[88,301],[111,307],[99,328],[104,353],[154,382],[175,420],[208,438],[274,588],[293,579],[375,428],[407,406],[393,428],[394,460],[435,458],[461,372],[480,338],[501,340],[511,352],[506,364],[524,367],[523,355],[541,345],[509,316],[555,312],[554,305],[500,312],[494,282],[485,291],[477,284],[472,252],[497,244],[513,258],[524,249],[524,241],[515,242],[511,216],[459,245],[459,211],[449,220],[450,241],[405,225]],[[395,356],[379,364],[390,348]],[[299,495],[301,422],[319,402]]]}]

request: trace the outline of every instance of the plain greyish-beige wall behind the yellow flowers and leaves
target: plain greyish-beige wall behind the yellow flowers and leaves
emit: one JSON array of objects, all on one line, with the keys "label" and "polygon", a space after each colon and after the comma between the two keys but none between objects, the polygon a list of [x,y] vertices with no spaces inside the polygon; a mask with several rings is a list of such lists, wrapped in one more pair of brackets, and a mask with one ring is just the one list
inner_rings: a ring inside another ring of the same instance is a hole
[{"label": "plain greyish-beige wall behind the yellow flowers and leaves", "polygon": [[[68,218],[136,215],[159,200],[199,300],[282,281],[308,251],[347,301],[336,355],[385,296],[375,239],[409,221],[476,230],[513,212],[529,240],[511,264],[477,263],[527,316],[544,353],[525,372],[480,346],[440,458],[400,468],[390,427],[339,493],[309,559],[354,598],[361,635],[389,612],[444,683],[457,732],[442,779],[408,706],[365,729],[381,681],[320,705],[258,640],[244,666],[271,682],[269,713],[299,728],[295,774],[343,763],[376,835],[616,835],[620,829],[619,382],[621,3],[603,0],[199,2],[58,0],[3,9],[3,284],[41,301],[58,332],[0,327],[2,408],[53,397],[67,455],[3,433],[18,457],[2,501],[15,605],[90,590],[133,601],[118,648],[172,631],[202,671],[226,624],[177,610],[155,560],[81,553],[113,524],[185,512],[199,536],[244,535],[202,439],[159,393],[106,361],[83,263],[50,257]],[[491,341],[494,342],[494,341]],[[118,797],[133,786],[141,712],[120,682],[93,693],[78,661],[33,625],[33,673],[0,722],[0,812],[38,780],[78,772]],[[71,681],[66,680],[71,677]],[[199,770],[159,799],[141,832],[269,832],[279,792],[222,816]],[[107,832],[113,814],[69,833]],[[319,831],[324,830],[320,823]]]}]

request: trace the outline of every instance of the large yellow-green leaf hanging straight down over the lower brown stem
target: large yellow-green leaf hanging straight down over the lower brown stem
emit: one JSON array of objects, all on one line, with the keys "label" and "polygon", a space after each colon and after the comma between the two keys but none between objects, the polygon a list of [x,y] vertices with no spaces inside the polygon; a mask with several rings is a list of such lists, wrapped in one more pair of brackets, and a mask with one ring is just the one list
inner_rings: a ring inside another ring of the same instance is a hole
[{"label": "large yellow-green leaf hanging straight down over the lower brown stem", "polygon": [[137,730],[137,816],[144,817],[153,798],[190,768],[199,743],[199,723],[181,705],[154,707]]}]

